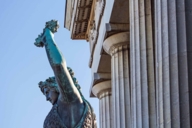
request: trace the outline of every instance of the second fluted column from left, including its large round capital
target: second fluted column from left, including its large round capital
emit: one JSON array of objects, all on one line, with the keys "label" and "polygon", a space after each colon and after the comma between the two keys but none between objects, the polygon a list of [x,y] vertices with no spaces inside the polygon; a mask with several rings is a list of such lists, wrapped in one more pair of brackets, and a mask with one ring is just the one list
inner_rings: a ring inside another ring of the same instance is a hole
[{"label": "second fluted column from left, including its large round capital", "polygon": [[104,50],[111,55],[113,127],[131,128],[129,82],[129,33],[108,37]]}]

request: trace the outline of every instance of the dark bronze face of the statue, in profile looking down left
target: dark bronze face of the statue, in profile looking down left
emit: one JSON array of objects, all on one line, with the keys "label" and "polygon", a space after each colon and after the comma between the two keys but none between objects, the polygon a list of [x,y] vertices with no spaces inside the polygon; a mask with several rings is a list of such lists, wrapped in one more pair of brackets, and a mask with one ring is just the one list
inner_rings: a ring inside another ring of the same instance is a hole
[{"label": "dark bronze face of the statue, in profile looking down left", "polygon": [[58,98],[58,93],[54,90],[51,90],[49,88],[44,88],[43,93],[48,101],[50,101],[53,105],[56,103]]}]

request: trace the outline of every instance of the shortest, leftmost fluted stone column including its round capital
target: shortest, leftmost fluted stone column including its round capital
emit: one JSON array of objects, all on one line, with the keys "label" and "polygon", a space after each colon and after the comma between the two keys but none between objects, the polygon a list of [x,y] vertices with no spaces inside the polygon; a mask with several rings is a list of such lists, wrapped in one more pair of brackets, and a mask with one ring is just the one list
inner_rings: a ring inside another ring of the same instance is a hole
[{"label": "shortest, leftmost fluted stone column including its round capital", "polygon": [[95,84],[92,92],[99,98],[100,128],[112,128],[111,81]]}]

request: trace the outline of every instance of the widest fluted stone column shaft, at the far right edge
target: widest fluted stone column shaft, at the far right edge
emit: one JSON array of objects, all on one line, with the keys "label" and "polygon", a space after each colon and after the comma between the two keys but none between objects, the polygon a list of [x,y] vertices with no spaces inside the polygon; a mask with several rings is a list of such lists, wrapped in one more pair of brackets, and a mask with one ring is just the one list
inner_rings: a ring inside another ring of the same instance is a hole
[{"label": "widest fluted stone column shaft, at the far right edge", "polygon": [[157,127],[192,127],[192,1],[155,0]]}]

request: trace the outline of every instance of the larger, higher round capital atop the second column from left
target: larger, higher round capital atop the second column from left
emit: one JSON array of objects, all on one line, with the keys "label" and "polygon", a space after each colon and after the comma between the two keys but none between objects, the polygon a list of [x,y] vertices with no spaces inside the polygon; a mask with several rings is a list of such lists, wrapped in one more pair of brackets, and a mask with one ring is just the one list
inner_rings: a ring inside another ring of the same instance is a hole
[{"label": "larger, higher round capital atop the second column from left", "polygon": [[118,51],[128,49],[128,45],[129,45],[129,32],[121,32],[105,39],[103,43],[103,49],[108,54],[113,55]]}]

